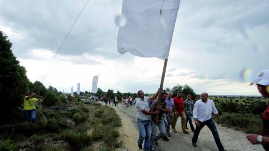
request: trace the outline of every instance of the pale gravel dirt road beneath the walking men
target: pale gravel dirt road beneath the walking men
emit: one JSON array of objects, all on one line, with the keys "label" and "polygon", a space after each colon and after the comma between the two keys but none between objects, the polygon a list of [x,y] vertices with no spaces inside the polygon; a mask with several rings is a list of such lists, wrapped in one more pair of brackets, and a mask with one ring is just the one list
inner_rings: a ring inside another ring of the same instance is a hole
[{"label": "pale gravel dirt road beneath the walking men", "polygon": [[[138,138],[138,127],[137,127],[137,119],[136,119],[136,108],[135,106],[127,107],[124,109],[121,104],[118,107],[113,107],[116,112],[119,114],[122,119],[123,126],[120,129],[120,134],[123,135],[124,138],[124,146],[127,147],[127,150],[137,151],[137,138]],[[194,121],[193,121],[194,124]],[[170,128],[171,129],[171,128]],[[193,133],[190,135],[184,134],[181,129],[181,121],[180,118],[176,124],[176,129],[179,131],[178,133],[171,133],[171,138],[169,142],[165,142],[163,140],[159,141],[158,150],[159,151],[217,151],[218,148],[214,141],[211,131],[207,126],[205,126],[198,138],[197,147],[193,147],[191,144],[191,138],[193,137]],[[219,131],[220,140],[225,149],[229,151],[252,151],[252,150],[263,150],[261,145],[252,145],[246,139],[246,133],[241,131],[235,131],[231,128],[222,127],[217,125],[217,129]]]}]

